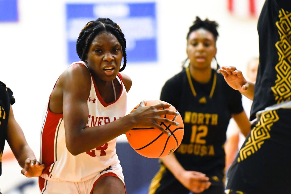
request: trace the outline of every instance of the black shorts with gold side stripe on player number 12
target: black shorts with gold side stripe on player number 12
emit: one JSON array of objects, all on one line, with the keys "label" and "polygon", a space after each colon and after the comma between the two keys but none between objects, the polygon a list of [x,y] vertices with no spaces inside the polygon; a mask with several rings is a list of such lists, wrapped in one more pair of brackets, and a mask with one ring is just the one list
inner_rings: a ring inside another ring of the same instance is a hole
[{"label": "black shorts with gold side stripe on player number 12", "polygon": [[[202,192],[202,194],[224,194],[224,173],[221,170],[218,173],[206,173],[209,177],[211,186]],[[152,179],[149,188],[149,194],[189,194],[190,191],[184,187],[173,174],[161,164],[161,168]]]}]

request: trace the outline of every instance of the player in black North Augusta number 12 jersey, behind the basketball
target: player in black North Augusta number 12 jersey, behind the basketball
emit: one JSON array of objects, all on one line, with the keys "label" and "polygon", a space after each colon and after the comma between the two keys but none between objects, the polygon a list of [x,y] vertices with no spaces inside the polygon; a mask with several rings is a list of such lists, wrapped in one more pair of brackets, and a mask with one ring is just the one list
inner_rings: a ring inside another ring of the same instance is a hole
[{"label": "player in black North Augusta number 12 jersey, behind the basketball", "polygon": [[241,94],[211,69],[216,55],[216,22],[196,18],[187,35],[189,66],[169,79],[160,99],[179,110],[184,137],[179,148],[161,158],[149,194],[224,193],[226,129],[233,117],[244,135],[250,124]]}]

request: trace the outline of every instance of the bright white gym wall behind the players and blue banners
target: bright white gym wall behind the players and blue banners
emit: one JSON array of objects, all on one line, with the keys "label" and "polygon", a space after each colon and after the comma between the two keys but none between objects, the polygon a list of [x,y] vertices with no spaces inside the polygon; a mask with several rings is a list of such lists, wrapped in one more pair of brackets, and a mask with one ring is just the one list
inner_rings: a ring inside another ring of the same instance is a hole
[{"label": "bright white gym wall behind the players and blue banners", "polygon": [[[65,38],[66,2],[85,1],[19,0],[19,21],[0,23],[0,80],[14,92],[15,118],[22,126],[37,158],[42,115],[48,97],[56,79],[68,65]],[[159,60],[150,64],[128,62],[124,73],[133,82],[128,94],[129,111],[143,99],[159,99],[165,81],[181,70],[181,61],[186,58],[186,34],[196,15],[216,20],[220,25],[217,41],[219,64],[235,65],[238,69],[245,70],[247,61],[259,54],[257,19],[232,17],[227,12],[226,2],[156,0]],[[2,166],[5,165],[9,166],[3,161]],[[16,166],[13,170],[16,173],[14,176],[19,176],[20,167]],[[2,192],[12,187],[15,178],[11,174],[11,168],[4,167],[0,177]]]}]

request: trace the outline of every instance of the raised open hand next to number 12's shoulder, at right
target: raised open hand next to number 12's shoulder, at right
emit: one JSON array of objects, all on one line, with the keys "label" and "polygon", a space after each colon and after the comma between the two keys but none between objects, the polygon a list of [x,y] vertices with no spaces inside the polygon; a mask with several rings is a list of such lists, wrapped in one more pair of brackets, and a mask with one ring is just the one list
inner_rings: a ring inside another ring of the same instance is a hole
[{"label": "raised open hand next to number 12's shoulder, at right", "polygon": [[236,70],[236,67],[221,67],[219,72],[224,76],[226,83],[235,90],[243,92],[248,89],[249,84],[243,73]]}]

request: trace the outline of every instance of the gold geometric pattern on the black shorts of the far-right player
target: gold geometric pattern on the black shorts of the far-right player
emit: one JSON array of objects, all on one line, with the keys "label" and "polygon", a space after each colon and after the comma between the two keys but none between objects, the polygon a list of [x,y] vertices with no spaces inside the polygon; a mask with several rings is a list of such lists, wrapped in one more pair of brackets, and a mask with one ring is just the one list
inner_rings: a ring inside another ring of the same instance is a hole
[{"label": "gold geometric pattern on the black shorts of the far-right player", "polygon": [[239,150],[237,162],[243,161],[261,148],[266,139],[270,138],[269,131],[279,117],[275,110],[262,113],[259,122],[250,132],[250,137],[244,147]]}]

